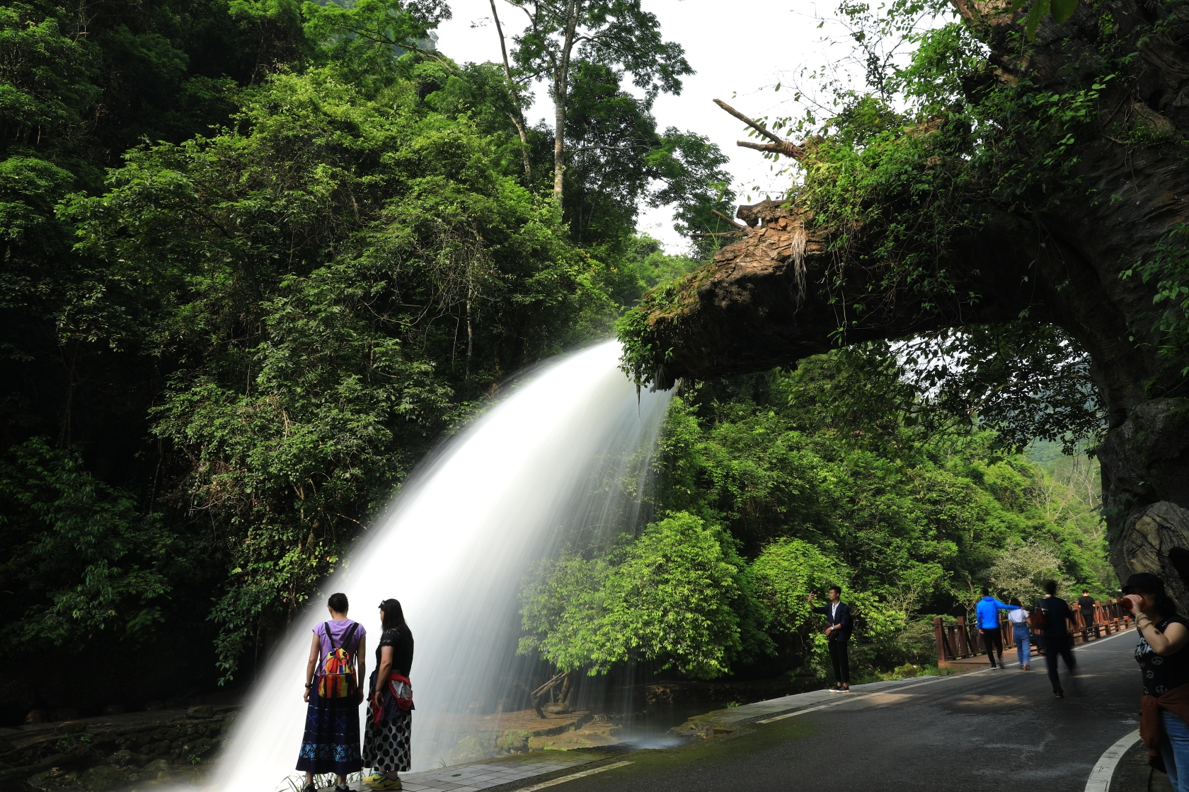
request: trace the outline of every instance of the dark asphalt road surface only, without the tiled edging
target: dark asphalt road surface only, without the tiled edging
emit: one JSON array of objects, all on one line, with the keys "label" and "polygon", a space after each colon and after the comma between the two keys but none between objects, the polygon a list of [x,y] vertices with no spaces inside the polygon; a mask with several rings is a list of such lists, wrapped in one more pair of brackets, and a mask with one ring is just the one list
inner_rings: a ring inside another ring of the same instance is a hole
[{"label": "dark asphalt road surface only, without the tiled edging", "polygon": [[[1042,659],[1032,671],[1008,666],[854,695],[709,743],[633,752],[623,756],[631,765],[559,788],[1082,792],[1099,756],[1138,727],[1135,642],[1128,632],[1075,650],[1080,676],[1069,682],[1062,664],[1063,699]],[[1138,779],[1137,761],[1120,769]]]}]

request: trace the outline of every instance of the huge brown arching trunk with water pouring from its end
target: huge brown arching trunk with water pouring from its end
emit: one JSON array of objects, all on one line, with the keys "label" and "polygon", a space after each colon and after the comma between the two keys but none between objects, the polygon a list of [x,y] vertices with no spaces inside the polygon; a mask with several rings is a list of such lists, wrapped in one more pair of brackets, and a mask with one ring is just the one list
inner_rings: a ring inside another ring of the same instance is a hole
[{"label": "huge brown arching trunk with water pouring from its end", "polygon": [[[968,18],[973,13],[965,4],[960,8]],[[1064,78],[1062,69],[1093,47],[1087,42],[1105,8],[1082,2],[1064,26],[1046,19],[1028,58],[1019,57],[1018,40],[1007,36],[1019,28],[1019,17],[1001,13],[1004,5],[979,4],[977,11],[980,24],[989,19],[982,30],[990,31],[990,62],[1004,78],[1027,77],[1052,89]],[[1168,17],[1149,8],[1132,0],[1109,6],[1124,31],[1145,14]],[[1187,37],[1189,24],[1181,24],[1165,44]],[[685,375],[763,370],[828,351],[839,341],[1020,316],[1059,325],[1088,353],[1107,412],[1097,456],[1115,571],[1121,579],[1135,571],[1159,574],[1181,607],[1189,608],[1189,385],[1179,374],[1189,361],[1157,351],[1160,337],[1150,316],[1155,285],[1121,277],[1150,260],[1156,243],[1189,220],[1189,172],[1178,151],[1189,133],[1189,99],[1179,103],[1182,90],[1189,97],[1189,52],[1175,44],[1153,50],[1146,40],[1137,43],[1144,57],[1134,59],[1134,74],[1103,93],[1102,116],[1127,108],[1134,123],[1174,128],[1172,140],[1133,147],[1103,132],[1072,154],[1078,158],[1072,176],[1081,184],[1040,214],[1018,214],[988,196],[971,208],[980,222],[936,260],[938,270],[951,273],[952,291],[913,292],[901,285],[889,292],[883,272],[869,260],[848,258],[853,243],[831,247],[837,236],[797,201],[785,208],[775,202],[742,207],[738,216],[750,224],[743,239],[718,251],[675,291],[646,300],[643,341],[654,350],[656,385],[669,387]],[[1021,62],[1027,69],[1017,68]],[[812,157],[811,147],[772,146]],[[874,251],[881,234],[862,229],[860,245]],[[981,299],[954,298],[968,293]],[[864,309],[857,316],[856,304]],[[838,328],[844,328],[841,337]]]}]

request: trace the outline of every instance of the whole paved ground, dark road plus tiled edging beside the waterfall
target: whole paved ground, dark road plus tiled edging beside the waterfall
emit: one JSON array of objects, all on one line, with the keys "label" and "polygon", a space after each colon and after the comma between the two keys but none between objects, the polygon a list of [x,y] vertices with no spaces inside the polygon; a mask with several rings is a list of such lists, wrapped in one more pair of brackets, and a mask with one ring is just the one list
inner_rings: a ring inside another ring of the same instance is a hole
[{"label": "whole paved ground, dark road plus tiled edging beside the waterfall", "polygon": [[[692,718],[690,737],[726,737],[709,742],[614,756],[536,752],[402,779],[408,792],[536,790],[542,783],[559,784],[560,792],[1002,792],[1006,774],[1008,786],[1083,792],[1102,752],[1135,729],[1139,678],[1128,635],[1077,647],[1081,674],[1071,682],[1062,673],[1064,699],[1052,697],[1042,658],[1030,672],[1013,664],[877,682]],[[1138,790],[1146,781],[1139,753],[1130,752],[1114,775],[1112,791]],[[1156,781],[1155,788],[1168,788]]]}]

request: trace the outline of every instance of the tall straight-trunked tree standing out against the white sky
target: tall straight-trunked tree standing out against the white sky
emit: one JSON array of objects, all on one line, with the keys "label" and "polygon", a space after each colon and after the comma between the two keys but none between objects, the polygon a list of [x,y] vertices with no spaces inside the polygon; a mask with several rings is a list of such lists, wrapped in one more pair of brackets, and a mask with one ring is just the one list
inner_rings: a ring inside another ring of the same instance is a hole
[{"label": "tall straight-trunked tree standing out against the white sky", "polygon": [[661,38],[656,15],[640,0],[508,0],[528,17],[528,28],[512,38],[512,57],[526,75],[549,82],[553,99],[553,196],[561,201],[565,172],[566,108],[571,72],[586,61],[628,72],[644,91],[681,93],[681,76],[693,74],[685,50]]}]

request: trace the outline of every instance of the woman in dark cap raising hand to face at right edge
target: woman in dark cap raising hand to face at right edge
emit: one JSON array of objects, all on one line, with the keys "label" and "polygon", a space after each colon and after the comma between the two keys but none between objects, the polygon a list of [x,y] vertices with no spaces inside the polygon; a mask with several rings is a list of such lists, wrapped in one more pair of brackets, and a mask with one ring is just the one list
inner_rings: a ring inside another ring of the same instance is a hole
[{"label": "woman in dark cap raising hand to face at right edge", "polygon": [[1174,790],[1189,792],[1189,621],[1156,575],[1132,575],[1122,591],[1121,602],[1135,615],[1139,632],[1139,736],[1149,764],[1168,773]]}]

